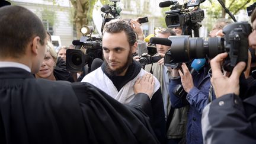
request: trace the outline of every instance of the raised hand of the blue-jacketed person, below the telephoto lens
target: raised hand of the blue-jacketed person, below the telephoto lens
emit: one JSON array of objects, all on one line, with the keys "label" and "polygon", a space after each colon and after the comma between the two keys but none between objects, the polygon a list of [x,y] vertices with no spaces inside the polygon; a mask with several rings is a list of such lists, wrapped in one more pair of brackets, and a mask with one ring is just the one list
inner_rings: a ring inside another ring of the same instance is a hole
[{"label": "raised hand of the blue-jacketed person, below the telephoto lens", "polygon": [[180,73],[181,76],[181,84],[183,85],[185,92],[188,93],[190,89],[194,87],[193,78],[185,63],[181,65],[181,68],[183,69],[183,72],[181,72],[180,69],[178,70],[178,73]]}]

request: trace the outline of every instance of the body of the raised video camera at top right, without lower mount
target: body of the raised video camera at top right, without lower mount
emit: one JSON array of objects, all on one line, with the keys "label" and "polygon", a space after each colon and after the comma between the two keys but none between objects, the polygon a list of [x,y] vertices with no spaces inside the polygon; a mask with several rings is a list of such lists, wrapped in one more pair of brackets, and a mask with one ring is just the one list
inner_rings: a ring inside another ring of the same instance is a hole
[{"label": "body of the raised video camera at top right, without lower mount", "polygon": [[[171,7],[170,11],[165,12],[165,23],[167,27],[183,27],[184,25],[190,25],[200,23],[204,19],[204,11],[199,8],[201,0],[190,0],[184,5],[180,5],[178,2],[172,2],[175,4]],[[194,9],[188,9],[189,7],[197,7]]]}]

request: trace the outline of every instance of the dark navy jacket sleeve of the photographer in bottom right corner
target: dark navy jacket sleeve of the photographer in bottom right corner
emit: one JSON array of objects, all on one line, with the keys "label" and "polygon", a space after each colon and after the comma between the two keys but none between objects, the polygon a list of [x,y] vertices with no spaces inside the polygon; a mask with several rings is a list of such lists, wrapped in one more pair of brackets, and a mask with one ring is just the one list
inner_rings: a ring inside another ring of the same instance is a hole
[{"label": "dark navy jacket sleeve of the photographer in bottom right corner", "polygon": [[223,95],[204,108],[204,143],[256,143],[256,95],[242,101],[235,94]]}]

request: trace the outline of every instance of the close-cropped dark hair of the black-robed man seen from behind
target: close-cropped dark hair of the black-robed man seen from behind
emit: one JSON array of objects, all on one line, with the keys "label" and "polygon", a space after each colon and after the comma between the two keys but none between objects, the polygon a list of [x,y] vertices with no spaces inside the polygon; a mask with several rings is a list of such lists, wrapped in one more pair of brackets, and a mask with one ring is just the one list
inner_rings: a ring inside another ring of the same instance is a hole
[{"label": "close-cropped dark hair of the black-robed man seen from behind", "polygon": [[20,6],[0,8],[0,57],[19,58],[36,36],[44,44],[46,30],[41,20],[30,10]]}]

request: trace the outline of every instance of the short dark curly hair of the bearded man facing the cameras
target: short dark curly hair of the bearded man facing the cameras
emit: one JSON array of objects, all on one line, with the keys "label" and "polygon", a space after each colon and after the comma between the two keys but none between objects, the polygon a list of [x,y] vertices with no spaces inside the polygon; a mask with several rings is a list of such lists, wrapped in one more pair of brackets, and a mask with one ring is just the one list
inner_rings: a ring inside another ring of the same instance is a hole
[{"label": "short dark curly hair of the bearded man facing the cameras", "polygon": [[125,20],[114,19],[105,24],[103,34],[107,33],[126,33],[130,47],[137,41],[135,31],[130,27],[129,23]]}]

